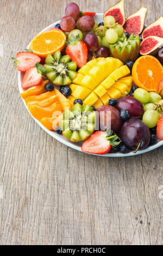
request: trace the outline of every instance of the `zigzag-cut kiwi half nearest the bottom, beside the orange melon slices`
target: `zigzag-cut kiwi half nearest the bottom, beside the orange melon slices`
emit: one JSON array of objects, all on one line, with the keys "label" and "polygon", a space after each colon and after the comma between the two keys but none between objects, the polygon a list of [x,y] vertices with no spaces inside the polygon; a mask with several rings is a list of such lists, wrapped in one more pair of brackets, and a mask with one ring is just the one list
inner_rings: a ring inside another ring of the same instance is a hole
[{"label": "zigzag-cut kiwi half nearest the bottom, beside the orange melon slices", "polygon": [[60,123],[63,135],[72,142],[85,141],[95,131],[96,112],[89,105],[66,109]]}]

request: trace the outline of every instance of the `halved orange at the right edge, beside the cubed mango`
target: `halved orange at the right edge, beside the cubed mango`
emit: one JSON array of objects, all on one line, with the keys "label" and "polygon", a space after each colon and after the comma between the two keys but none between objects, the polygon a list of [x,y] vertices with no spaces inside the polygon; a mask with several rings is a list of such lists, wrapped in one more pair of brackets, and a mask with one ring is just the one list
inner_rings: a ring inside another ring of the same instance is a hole
[{"label": "halved orange at the right edge, beside the cubed mango", "polygon": [[132,75],[136,86],[148,92],[155,92],[156,86],[163,78],[163,67],[155,57],[142,56],[134,63]]}]

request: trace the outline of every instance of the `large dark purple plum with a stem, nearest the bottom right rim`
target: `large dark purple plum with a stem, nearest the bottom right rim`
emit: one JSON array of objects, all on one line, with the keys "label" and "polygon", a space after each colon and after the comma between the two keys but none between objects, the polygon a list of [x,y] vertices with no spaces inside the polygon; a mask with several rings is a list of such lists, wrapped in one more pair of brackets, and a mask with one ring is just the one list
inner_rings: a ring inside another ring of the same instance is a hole
[{"label": "large dark purple plum with a stem, nearest the bottom right rim", "polygon": [[131,118],[122,126],[121,139],[132,150],[136,150],[139,143],[141,143],[139,149],[145,149],[149,145],[151,133],[143,121]]}]

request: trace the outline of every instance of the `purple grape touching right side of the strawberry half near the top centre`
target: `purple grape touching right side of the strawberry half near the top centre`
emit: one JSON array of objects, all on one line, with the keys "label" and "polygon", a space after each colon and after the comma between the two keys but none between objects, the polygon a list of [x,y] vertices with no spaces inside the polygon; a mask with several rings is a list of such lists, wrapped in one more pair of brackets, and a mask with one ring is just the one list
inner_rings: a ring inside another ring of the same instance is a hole
[{"label": "purple grape touching right side of the strawberry half near the top centre", "polygon": [[85,42],[88,51],[97,51],[99,47],[98,38],[95,34],[89,33],[84,36],[83,42]]}]

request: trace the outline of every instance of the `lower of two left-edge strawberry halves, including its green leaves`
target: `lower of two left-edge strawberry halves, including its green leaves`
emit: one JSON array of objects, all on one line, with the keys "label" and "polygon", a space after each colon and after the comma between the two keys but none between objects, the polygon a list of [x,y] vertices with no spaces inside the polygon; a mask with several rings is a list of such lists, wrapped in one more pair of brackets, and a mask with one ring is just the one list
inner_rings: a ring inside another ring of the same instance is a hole
[{"label": "lower of two left-edge strawberry halves, including its green leaves", "polygon": [[44,66],[37,62],[35,67],[28,69],[24,74],[22,88],[26,89],[33,86],[38,86],[42,82],[43,77],[45,77],[44,73]]}]

